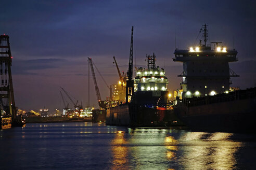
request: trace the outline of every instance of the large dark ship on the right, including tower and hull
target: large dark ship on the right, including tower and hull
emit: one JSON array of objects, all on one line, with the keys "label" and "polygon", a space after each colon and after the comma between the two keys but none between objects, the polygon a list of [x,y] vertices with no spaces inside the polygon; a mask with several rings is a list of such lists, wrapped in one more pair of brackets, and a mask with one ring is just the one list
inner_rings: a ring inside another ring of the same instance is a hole
[{"label": "large dark ship on the right, including tower and hull", "polygon": [[207,46],[207,26],[203,25],[204,45],[175,49],[173,61],[183,63],[181,96],[176,96],[175,114],[191,129],[220,132],[252,132],[256,110],[256,88],[231,92],[230,77],[238,75],[229,62],[238,61],[235,49],[212,42]]}]

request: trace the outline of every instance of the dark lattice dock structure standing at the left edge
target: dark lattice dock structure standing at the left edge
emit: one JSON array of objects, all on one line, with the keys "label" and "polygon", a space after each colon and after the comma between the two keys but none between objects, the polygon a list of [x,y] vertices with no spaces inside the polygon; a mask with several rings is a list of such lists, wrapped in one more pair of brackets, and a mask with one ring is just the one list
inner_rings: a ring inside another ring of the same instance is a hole
[{"label": "dark lattice dock structure standing at the left edge", "polygon": [[0,35],[0,129],[7,129],[16,120],[14,88],[11,78],[10,43],[8,35]]}]

